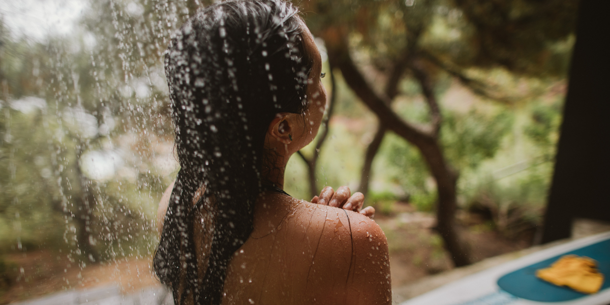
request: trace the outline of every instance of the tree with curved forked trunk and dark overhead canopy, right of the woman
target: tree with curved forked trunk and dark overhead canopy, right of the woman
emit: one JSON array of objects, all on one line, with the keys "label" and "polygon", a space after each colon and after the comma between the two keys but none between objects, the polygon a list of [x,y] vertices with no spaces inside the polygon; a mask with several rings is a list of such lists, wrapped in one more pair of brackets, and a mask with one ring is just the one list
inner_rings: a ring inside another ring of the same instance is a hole
[{"label": "tree with curved forked trunk and dark overhead canopy, right of the woman", "polygon": [[[371,162],[386,131],[417,146],[437,185],[437,230],[454,264],[462,266],[472,260],[456,231],[458,170],[440,142],[443,117],[434,77],[445,71],[478,95],[504,102],[519,99],[498,92],[497,84],[468,75],[468,68],[501,66],[536,76],[563,73],[569,51],[558,46],[572,34],[577,1],[416,2],[311,1],[306,10],[317,13],[308,21],[314,34],[324,38],[331,65],[379,119],[365,156],[361,192],[367,192]],[[552,26],[558,22],[562,26]],[[364,71],[384,75],[384,88],[370,82]],[[392,110],[405,76],[417,81],[428,104],[424,126],[405,121]]]}]

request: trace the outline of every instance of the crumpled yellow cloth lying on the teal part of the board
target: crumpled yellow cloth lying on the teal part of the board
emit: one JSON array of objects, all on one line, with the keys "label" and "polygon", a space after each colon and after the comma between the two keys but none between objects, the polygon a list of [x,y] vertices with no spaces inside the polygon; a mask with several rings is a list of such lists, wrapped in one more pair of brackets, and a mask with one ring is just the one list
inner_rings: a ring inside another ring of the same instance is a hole
[{"label": "crumpled yellow cloth lying on the teal part of the board", "polygon": [[564,255],[551,267],[539,269],[536,276],[558,286],[568,286],[583,293],[595,293],[604,282],[597,271],[597,262],[589,257]]}]

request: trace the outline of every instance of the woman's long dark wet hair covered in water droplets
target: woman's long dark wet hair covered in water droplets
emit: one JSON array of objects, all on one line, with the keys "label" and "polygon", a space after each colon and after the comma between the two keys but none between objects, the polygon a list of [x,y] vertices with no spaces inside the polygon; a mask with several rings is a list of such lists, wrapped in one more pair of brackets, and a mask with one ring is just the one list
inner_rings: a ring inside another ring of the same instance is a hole
[{"label": "woman's long dark wet hair covered in water droplets", "polygon": [[[168,46],[181,168],[154,270],[176,303],[221,304],[228,264],[253,230],[254,203],[267,183],[267,128],[278,112],[307,109],[312,58],[297,13],[282,0],[219,2],[192,16]],[[203,199],[193,206],[203,185]],[[203,207],[213,218],[204,229],[211,248],[197,251],[194,230],[204,221],[195,220],[205,200],[213,202],[213,209]]]}]

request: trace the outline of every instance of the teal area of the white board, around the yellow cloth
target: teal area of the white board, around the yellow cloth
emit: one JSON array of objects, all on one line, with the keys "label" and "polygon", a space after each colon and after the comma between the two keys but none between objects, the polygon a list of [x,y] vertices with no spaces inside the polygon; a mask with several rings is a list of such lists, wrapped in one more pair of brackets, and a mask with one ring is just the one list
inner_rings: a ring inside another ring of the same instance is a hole
[{"label": "teal area of the white board, around the yellow cloth", "polygon": [[597,267],[604,274],[604,283],[600,291],[610,287],[610,280],[608,279],[610,276],[610,239],[562,253],[542,262],[508,273],[498,279],[498,286],[514,296],[538,302],[570,301],[587,296],[586,293],[576,292],[567,287],[559,287],[536,277],[536,270],[549,267],[559,257],[566,254],[587,256],[597,260]]}]

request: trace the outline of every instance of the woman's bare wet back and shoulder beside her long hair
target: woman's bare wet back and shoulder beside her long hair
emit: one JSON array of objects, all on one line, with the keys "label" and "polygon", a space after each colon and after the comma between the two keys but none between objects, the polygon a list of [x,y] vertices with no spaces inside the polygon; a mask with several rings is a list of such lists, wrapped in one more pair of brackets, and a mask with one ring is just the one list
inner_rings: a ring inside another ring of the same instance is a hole
[{"label": "woman's bare wet back and shoulder beside her long hair", "polygon": [[387,304],[387,241],[375,221],[273,194],[235,253],[223,304]]}]

